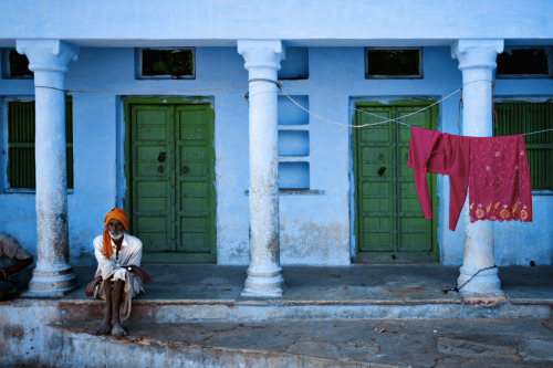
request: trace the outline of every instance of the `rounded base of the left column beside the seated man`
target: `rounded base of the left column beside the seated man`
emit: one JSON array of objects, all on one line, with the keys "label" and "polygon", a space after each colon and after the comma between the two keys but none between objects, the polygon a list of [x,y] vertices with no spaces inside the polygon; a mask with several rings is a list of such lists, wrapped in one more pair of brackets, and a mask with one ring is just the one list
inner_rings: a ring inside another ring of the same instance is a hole
[{"label": "rounded base of the left column beside the seated man", "polygon": [[73,267],[50,272],[36,271],[35,269],[32,274],[29,290],[21,293],[22,297],[58,298],[79,287]]}]

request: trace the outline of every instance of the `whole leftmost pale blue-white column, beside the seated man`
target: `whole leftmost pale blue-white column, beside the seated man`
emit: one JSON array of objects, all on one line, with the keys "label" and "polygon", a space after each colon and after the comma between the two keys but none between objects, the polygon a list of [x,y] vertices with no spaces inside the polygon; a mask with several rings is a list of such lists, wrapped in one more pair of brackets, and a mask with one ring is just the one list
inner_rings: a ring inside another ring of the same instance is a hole
[{"label": "whole leftmost pale blue-white column, beside the seated man", "polygon": [[76,285],[69,264],[65,72],[77,49],[60,40],[18,40],[34,72],[36,267],[29,296],[58,297]]}]

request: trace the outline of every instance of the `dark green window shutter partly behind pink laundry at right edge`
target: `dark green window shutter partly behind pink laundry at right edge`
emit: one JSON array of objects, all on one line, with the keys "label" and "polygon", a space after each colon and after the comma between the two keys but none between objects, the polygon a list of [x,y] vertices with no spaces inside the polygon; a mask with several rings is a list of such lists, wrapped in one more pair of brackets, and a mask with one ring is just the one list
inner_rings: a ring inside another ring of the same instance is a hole
[{"label": "dark green window shutter partly behind pink laundry at right edge", "polygon": [[[509,102],[495,104],[493,136],[507,136],[553,128],[553,104]],[[553,190],[553,132],[524,136],[533,190]]]}]

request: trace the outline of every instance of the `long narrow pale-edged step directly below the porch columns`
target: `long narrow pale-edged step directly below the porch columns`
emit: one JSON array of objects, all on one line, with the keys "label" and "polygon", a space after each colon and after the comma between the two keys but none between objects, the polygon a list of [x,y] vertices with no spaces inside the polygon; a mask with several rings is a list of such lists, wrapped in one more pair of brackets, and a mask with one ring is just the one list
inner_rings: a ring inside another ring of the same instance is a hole
[{"label": "long narrow pale-edged step directly below the porch columns", "polygon": [[[513,303],[514,302],[514,303]],[[248,301],[248,299],[138,299],[132,319],[157,323],[257,322],[313,319],[448,319],[448,318],[547,318],[547,303],[505,299],[494,307],[466,305],[460,301]],[[66,320],[101,319],[101,301],[60,301]]]}]

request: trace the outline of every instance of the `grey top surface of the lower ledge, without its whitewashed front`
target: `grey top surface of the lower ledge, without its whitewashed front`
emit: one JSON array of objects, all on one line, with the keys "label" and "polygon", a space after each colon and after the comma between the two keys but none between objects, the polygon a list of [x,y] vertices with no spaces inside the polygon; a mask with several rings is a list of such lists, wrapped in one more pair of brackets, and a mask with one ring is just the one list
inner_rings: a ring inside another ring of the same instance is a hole
[{"label": "grey top surface of the lower ledge, without its whitewashed front", "polygon": [[553,332],[539,319],[135,322],[119,339],[92,336],[95,327],[70,323],[59,328],[112,346],[169,345],[219,357],[231,351],[246,361],[259,355],[268,361],[300,357],[292,361],[302,367],[553,367]]}]

